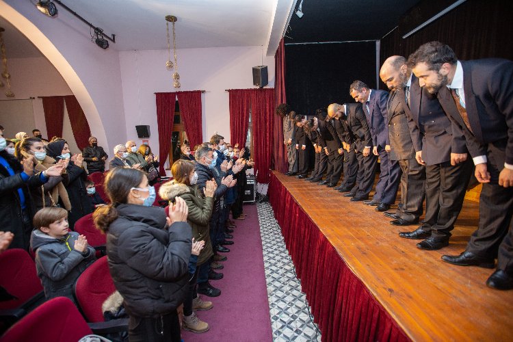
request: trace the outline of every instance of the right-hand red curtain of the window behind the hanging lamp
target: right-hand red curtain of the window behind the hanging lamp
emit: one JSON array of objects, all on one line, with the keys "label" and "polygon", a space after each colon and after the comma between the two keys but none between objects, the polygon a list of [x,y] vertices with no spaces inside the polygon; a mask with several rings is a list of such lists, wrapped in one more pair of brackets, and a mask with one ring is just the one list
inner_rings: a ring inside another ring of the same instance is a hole
[{"label": "right-hand red curtain of the window behind the hanging lamp", "polygon": [[180,105],[180,115],[182,116],[185,132],[187,132],[187,139],[191,149],[193,149],[194,146],[203,142],[201,91],[176,92],[176,97]]}]

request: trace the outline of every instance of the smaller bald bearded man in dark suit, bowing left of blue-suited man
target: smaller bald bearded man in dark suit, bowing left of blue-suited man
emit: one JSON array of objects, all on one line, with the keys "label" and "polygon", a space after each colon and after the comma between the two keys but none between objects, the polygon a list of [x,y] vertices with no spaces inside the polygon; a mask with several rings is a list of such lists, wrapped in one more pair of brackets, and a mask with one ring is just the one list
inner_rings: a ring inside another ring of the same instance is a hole
[{"label": "smaller bald bearded man in dark suit, bowing left of blue-suited man", "polygon": [[372,137],[369,124],[360,103],[339,105],[332,103],[328,107],[328,116],[339,121],[344,127],[344,133],[339,137],[356,153],[358,160],[358,185],[353,187],[345,197],[352,197],[351,201],[367,200],[374,184],[374,172],[376,171],[377,157],[371,154]]}]

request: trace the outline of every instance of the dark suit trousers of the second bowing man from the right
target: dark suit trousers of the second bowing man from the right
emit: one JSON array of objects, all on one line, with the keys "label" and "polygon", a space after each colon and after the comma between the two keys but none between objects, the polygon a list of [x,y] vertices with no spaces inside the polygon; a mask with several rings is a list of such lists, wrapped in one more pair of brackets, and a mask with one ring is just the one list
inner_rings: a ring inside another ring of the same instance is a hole
[{"label": "dark suit trousers of the second bowing man from the right", "polygon": [[425,219],[421,228],[434,238],[448,238],[460,215],[472,173],[472,159],[451,166],[450,161],[425,167]]}]

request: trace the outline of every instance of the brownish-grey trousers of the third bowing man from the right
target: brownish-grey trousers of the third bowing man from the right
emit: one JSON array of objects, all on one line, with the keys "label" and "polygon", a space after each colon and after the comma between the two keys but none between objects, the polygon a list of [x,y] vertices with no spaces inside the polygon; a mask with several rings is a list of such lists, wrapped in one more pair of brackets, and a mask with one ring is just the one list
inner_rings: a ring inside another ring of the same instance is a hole
[{"label": "brownish-grey trousers of the third bowing man from the right", "polygon": [[408,222],[419,220],[423,213],[422,203],[425,198],[425,168],[417,159],[399,160],[401,176],[401,203],[395,213]]}]

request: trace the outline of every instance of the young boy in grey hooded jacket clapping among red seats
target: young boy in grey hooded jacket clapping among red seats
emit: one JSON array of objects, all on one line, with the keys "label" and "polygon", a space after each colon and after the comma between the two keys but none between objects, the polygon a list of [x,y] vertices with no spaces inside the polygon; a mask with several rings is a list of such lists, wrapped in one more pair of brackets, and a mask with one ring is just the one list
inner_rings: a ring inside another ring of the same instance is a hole
[{"label": "young boy in grey hooded jacket clapping among red seats", "polygon": [[34,215],[30,246],[36,253],[36,269],[47,300],[73,298],[73,285],[94,263],[94,248],[79,233],[68,231],[68,211],[46,207]]}]

